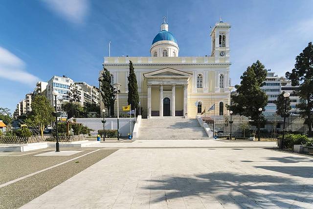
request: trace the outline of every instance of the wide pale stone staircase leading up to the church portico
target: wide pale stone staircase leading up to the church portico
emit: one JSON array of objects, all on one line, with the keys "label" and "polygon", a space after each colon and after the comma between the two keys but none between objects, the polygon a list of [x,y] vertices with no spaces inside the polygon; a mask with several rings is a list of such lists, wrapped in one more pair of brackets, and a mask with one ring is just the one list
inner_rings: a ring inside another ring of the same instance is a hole
[{"label": "wide pale stone staircase leading up to the church portico", "polygon": [[141,119],[137,139],[208,139],[197,119],[151,117]]}]

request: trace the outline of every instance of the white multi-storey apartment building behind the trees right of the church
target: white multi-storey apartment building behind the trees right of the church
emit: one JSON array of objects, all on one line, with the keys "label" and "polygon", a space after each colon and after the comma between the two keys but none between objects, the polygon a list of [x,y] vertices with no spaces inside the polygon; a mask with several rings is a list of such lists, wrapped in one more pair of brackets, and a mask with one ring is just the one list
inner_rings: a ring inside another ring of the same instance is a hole
[{"label": "white multi-storey apartment building behind the trees right of the church", "polygon": [[268,105],[265,107],[265,116],[272,116],[276,112],[276,104],[279,94],[283,92],[290,93],[291,100],[291,114],[299,115],[299,110],[295,107],[300,102],[300,97],[297,96],[293,91],[297,90],[299,86],[291,86],[291,80],[285,77],[278,77],[274,72],[268,72],[265,80],[265,85],[261,89],[268,95]]}]

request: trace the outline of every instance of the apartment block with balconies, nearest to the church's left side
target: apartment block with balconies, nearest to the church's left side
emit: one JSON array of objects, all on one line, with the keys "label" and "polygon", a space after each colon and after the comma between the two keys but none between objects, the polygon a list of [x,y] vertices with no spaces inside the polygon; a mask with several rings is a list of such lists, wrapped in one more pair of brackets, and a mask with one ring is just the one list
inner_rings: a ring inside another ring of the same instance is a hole
[{"label": "apartment block with balconies, nearest to the church's left side", "polygon": [[80,86],[81,91],[81,103],[100,105],[100,91],[97,87],[90,86],[86,82],[75,82],[77,86]]}]

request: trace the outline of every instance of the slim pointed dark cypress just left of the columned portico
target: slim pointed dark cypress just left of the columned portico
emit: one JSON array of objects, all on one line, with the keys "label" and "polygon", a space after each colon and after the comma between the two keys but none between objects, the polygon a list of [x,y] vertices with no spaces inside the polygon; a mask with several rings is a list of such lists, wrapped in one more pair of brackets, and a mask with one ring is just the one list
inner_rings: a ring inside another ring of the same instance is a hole
[{"label": "slim pointed dark cypress just left of the columned portico", "polygon": [[132,110],[137,109],[139,106],[139,95],[138,95],[138,86],[137,78],[134,71],[134,66],[132,61],[129,61],[129,76],[128,76],[128,104],[131,104]]}]

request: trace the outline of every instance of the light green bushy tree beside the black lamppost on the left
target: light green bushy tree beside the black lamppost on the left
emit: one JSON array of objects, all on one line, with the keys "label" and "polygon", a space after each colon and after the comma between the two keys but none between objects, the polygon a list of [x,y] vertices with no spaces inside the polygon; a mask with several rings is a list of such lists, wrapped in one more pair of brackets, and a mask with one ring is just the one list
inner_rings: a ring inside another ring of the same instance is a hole
[{"label": "light green bushy tree beside the black lamppost on the left", "polygon": [[44,129],[46,125],[51,124],[54,119],[52,113],[55,111],[51,107],[50,102],[44,95],[34,96],[31,103],[31,113],[27,116],[25,123],[30,126],[38,126],[40,134],[44,136]]}]

